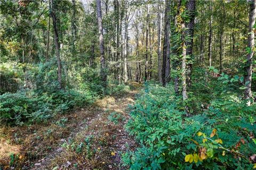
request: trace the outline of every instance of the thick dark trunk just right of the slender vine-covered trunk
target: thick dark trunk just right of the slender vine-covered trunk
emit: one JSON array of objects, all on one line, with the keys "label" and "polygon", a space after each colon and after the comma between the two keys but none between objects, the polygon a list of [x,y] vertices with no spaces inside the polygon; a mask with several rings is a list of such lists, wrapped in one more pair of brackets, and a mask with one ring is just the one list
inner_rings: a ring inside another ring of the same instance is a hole
[{"label": "thick dark trunk just right of the slender vine-covered trunk", "polygon": [[[189,17],[189,21],[186,25],[187,27],[187,36],[188,36],[188,41],[186,41],[186,47],[187,47],[187,51],[186,51],[186,55],[191,58],[193,57],[193,44],[194,44],[194,25],[195,25],[195,11],[196,11],[196,1],[195,0],[189,0],[187,5],[186,5],[187,11],[188,11],[188,17]],[[187,80],[188,80],[188,86],[191,85],[191,72],[192,72],[192,63],[190,62],[188,64],[188,76],[187,76]]]}]

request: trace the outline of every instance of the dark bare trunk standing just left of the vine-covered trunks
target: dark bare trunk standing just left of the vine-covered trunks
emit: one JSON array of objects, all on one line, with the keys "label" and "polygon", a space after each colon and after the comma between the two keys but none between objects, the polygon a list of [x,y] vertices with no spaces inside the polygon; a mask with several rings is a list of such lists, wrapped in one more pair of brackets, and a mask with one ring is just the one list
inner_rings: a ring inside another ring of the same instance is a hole
[{"label": "dark bare trunk standing just left of the vine-covered trunks", "polygon": [[[171,1],[165,1],[165,13],[164,13],[164,45],[163,45],[163,65],[162,65],[162,84],[166,85],[166,77],[170,72],[170,11]],[[169,60],[169,61],[168,61]],[[169,64],[167,64],[169,62]],[[169,68],[168,68],[169,67]],[[167,74],[166,74],[167,73]]]}]

